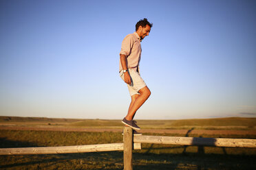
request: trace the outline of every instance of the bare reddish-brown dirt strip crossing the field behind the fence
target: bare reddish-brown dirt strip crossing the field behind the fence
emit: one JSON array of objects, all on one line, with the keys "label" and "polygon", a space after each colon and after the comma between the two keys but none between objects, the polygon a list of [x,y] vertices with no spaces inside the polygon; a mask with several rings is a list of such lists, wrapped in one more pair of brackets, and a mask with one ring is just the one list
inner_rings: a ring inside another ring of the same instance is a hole
[{"label": "bare reddish-brown dirt strip crossing the field behind the fence", "polygon": [[[0,126],[0,130],[42,130],[63,132],[122,132],[122,129],[114,128],[89,128],[89,127],[21,127]],[[256,135],[256,130],[140,130],[141,133],[156,134],[242,134]]]}]

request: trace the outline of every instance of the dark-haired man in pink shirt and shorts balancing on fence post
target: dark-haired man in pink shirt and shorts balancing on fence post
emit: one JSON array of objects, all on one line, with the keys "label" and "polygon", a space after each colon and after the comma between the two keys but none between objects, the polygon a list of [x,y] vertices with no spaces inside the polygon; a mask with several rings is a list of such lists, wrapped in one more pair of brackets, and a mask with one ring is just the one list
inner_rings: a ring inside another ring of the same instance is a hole
[{"label": "dark-haired man in pink shirt and shorts balancing on fence post", "polygon": [[122,40],[120,51],[119,73],[122,80],[127,83],[129,93],[131,95],[131,104],[127,116],[122,119],[122,123],[134,129],[134,134],[139,134],[135,130],[140,130],[134,121],[136,111],[145,103],[151,95],[151,92],[145,82],[140,77],[140,42],[149,36],[149,32],[153,23],[149,23],[147,19],[143,19],[136,23],[136,32],[128,34]]}]

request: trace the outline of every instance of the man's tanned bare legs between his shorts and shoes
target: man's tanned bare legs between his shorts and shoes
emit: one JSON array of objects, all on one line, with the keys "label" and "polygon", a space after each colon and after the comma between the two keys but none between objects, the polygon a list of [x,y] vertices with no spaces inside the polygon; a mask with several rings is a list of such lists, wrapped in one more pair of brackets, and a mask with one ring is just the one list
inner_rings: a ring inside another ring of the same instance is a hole
[{"label": "man's tanned bare legs between his shorts and shoes", "polygon": [[138,93],[140,93],[140,95],[131,96],[131,104],[129,106],[128,114],[125,117],[127,121],[131,121],[132,119],[134,119],[134,115],[136,111],[140,108],[140,106],[142,106],[142,104],[145,103],[145,101],[151,95],[151,92],[147,86],[145,86],[144,88],[141,88],[138,91]]}]

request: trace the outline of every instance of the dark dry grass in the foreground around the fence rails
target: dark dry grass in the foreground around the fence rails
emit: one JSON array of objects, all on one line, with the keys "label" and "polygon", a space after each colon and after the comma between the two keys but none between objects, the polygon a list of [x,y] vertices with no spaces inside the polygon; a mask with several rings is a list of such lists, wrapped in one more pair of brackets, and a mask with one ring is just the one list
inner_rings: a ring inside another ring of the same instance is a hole
[{"label": "dark dry grass in the foreground around the fence rails", "polygon": [[[158,134],[147,134],[158,135]],[[161,134],[180,136],[179,134]],[[199,137],[195,134],[189,135]],[[239,138],[215,134],[202,137]],[[256,138],[256,136],[246,136]],[[120,143],[120,132],[0,130],[1,147],[37,147]],[[255,169],[256,149],[142,144],[133,154],[134,169]],[[0,169],[122,169],[122,151],[84,154],[0,156]]]}]

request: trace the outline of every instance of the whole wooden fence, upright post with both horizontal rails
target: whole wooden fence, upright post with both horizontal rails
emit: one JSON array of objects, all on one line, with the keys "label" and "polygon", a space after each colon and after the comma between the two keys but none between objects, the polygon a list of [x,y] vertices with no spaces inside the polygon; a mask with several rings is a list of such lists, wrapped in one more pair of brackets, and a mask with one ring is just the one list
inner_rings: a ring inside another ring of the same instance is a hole
[{"label": "whole wooden fence, upright post with both horizontal rails", "polygon": [[134,136],[131,127],[124,128],[123,143],[100,145],[78,145],[65,147],[20,147],[1,148],[0,155],[22,154],[68,154],[95,151],[122,151],[124,169],[132,170],[132,150],[141,149],[141,143],[157,143],[171,145],[204,145],[216,147],[256,147],[256,139],[247,138],[193,138],[174,136]]}]

